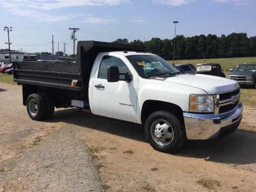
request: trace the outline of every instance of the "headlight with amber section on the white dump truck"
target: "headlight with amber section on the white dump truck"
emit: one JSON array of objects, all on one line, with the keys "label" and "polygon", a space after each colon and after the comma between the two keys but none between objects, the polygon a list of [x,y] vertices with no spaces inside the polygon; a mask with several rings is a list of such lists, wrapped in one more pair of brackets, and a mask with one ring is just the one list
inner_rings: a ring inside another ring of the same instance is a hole
[{"label": "headlight with amber section on the white dump truck", "polygon": [[189,112],[214,113],[213,95],[189,95]]}]

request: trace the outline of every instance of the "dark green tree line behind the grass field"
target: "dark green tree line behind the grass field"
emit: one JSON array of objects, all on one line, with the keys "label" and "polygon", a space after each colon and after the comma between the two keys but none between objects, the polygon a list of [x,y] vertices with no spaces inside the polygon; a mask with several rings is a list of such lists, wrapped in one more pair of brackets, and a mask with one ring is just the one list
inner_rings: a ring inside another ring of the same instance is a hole
[{"label": "dark green tree line behind the grass field", "polygon": [[177,35],[172,40],[152,38],[144,42],[117,39],[113,43],[143,45],[146,52],[157,54],[165,60],[173,60],[173,55],[175,60],[256,57],[256,36],[248,38],[247,33],[222,34],[221,37],[212,34],[193,37]]}]

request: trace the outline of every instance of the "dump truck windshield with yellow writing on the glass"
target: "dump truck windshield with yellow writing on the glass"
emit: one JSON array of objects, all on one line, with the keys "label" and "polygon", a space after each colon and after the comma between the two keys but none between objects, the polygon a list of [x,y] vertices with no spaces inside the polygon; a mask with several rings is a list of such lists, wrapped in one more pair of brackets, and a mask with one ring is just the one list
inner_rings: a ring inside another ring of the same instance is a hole
[{"label": "dump truck windshield with yellow writing on the glass", "polygon": [[158,55],[128,55],[127,59],[135,67],[142,78],[154,75],[170,75],[180,73],[174,66]]}]

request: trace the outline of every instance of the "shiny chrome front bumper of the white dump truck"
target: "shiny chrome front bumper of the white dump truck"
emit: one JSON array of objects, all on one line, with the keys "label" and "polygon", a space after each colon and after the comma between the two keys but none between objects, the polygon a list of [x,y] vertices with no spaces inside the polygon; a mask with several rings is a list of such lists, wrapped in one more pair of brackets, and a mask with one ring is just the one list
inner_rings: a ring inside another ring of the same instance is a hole
[{"label": "shiny chrome front bumper of the white dump truck", "polygon": [[187,139],[215,139],[235,132],[243,116],[243,105],[239,103],[232,113],[219,116],[213,114],[183,113]]}]

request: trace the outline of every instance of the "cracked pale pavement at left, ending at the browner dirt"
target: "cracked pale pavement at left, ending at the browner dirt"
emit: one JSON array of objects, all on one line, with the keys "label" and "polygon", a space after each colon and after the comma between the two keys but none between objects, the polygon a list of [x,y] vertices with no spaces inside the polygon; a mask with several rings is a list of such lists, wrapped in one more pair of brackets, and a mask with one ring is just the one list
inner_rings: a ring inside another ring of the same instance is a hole
[{"label": "cracked pale pavement at left, ending at the browner dirt", "polygon": [[0,95],[0,192],[104,191],[81,130],[28,119],[21,86],[0,83]]}]

